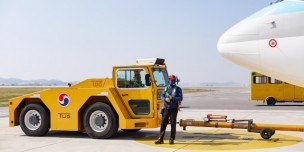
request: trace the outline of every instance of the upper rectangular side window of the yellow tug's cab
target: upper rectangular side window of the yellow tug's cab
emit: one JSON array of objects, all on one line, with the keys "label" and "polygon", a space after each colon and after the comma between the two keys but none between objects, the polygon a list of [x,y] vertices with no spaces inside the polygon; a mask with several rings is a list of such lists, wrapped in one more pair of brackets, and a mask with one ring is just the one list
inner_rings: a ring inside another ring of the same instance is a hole
[{"label": "upper rectangular side window of the yellow tug's cab", "polygon": [[118,88],[146,88],[144,69],[118,69],[116,84]]}]

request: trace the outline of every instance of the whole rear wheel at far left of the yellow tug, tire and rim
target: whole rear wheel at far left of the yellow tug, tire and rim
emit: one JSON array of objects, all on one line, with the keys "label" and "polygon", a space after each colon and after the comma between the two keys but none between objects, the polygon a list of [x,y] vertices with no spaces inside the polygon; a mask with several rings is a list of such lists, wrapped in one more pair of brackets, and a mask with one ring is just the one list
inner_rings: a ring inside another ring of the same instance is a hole
[{"label": "whole rear wheel at far left of the yellow tug, tire and rim", "polygon": [[50,130],[50,116],[39,104],[26,105],[19,116],[22,131],[28,136],[43,136]]}]

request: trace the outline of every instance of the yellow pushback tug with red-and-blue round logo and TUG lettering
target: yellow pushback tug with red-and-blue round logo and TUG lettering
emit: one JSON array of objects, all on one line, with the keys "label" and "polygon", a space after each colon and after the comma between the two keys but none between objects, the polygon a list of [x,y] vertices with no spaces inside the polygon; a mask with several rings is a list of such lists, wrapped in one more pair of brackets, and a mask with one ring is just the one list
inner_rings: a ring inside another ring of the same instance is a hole
[{"label": "yellow pushback tug with red-and-blue round logo and TUG lettering", "polygon": [[156,128],[161,92],[168,83],[164,59],[139,59],[114,66],[112,78],[87,79],[9,100],[9,125],[29,136],[85,130],[92,138],[110,138],[118,128]]}]

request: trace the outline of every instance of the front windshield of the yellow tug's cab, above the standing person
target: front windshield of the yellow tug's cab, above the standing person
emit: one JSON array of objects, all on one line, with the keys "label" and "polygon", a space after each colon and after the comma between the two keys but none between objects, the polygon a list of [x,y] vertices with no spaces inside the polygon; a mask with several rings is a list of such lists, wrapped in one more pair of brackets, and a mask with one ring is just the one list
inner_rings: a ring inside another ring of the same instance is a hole
[{"label": "front windshield of the yellow tug's cab, above the standing person", "polygon": [[163,68],[153,68],[153,76],[158,87],[164,87],[168,84],[168,73]]}]

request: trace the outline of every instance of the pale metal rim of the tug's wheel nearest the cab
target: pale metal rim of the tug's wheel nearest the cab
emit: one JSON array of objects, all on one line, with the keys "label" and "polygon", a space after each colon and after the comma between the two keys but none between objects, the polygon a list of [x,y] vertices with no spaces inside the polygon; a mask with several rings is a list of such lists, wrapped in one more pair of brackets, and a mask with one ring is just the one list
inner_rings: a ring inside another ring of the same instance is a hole
[{"label": "pale metal rim of the tug's wheel nearest the cab", "polygon": [[103,132],[108,127],[108,116],[100,110],[94,111],[90,116],[90,126],[95,132]]}]

